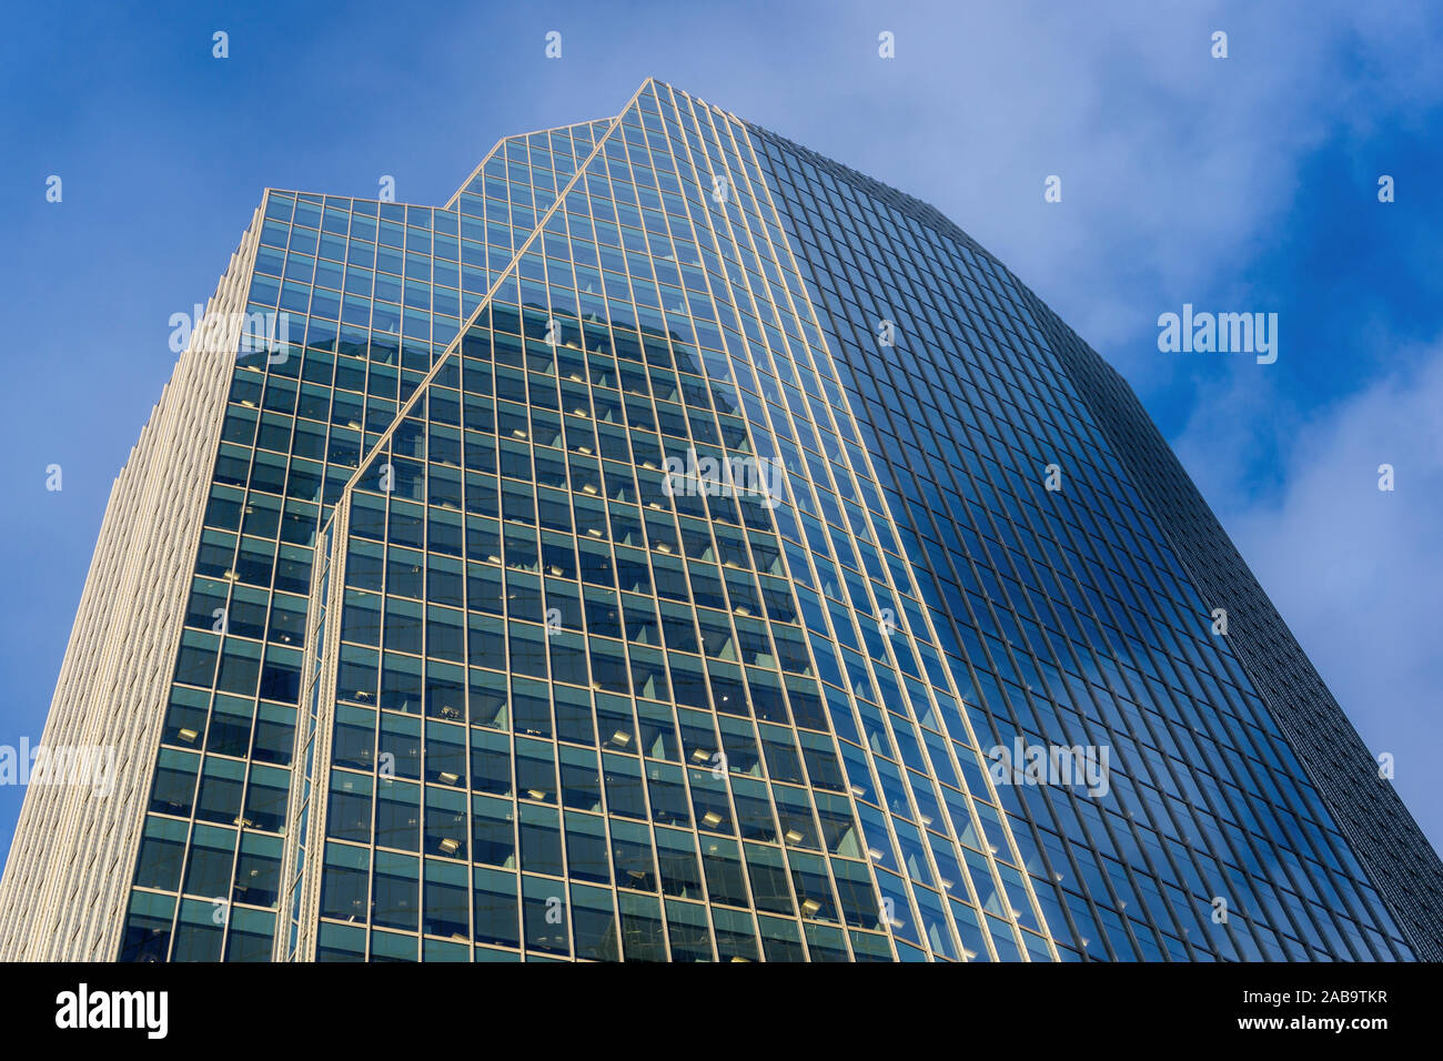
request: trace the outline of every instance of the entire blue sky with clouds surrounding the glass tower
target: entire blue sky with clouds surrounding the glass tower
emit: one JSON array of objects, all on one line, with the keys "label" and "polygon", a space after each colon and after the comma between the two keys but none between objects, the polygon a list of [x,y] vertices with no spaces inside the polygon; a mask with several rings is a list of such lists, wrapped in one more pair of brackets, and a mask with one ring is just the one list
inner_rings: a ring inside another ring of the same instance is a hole
[{"label": "entire blue sky with clouds surrounding the glass tower", "polygon": [[[1443,843],[1437,10],[491,7],[7,14],[0,743],[39,741],[111,481],[175,362],[167,320],[215,289],[261,191],[374,198],[392,175],[440,204],[498,137],[612,114],[651,75],[934,204],[1117,365]],[[1277,362],[1159,352],[1183,303],[1276,312]],[[20,795],[0,788],[0,844]]]}]

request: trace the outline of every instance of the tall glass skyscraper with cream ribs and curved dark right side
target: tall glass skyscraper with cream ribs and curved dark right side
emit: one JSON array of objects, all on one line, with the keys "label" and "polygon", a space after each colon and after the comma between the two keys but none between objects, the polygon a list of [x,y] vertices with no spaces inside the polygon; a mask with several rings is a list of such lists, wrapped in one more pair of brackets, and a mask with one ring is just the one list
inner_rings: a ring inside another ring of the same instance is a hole
[{"label": "tall glass skyscraper with cream ribs and curved dark right side", "polygon": [[443,208],[268,191],[193,323],[3,957],[1443,957],[1130,390],[925,204],[646,81]]}]

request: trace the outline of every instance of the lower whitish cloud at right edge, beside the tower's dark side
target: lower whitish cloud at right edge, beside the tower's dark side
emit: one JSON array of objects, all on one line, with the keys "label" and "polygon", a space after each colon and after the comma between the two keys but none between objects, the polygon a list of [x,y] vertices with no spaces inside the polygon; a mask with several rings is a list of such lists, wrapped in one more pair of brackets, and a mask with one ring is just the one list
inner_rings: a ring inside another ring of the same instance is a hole
[{"label": "lower whitish cloud at right edge, beside the tower's dark side", "polygon": [[[1240,374],[1176,449],[1313,665],[1437,844],[1443,748],[1443,341],[1302,416]],[[1261,375],[1267,375],[1266,372]],[[1280,484],[1247,479],[1258,433]],[[1378,489],[1392,465],[1395,489]]]}]

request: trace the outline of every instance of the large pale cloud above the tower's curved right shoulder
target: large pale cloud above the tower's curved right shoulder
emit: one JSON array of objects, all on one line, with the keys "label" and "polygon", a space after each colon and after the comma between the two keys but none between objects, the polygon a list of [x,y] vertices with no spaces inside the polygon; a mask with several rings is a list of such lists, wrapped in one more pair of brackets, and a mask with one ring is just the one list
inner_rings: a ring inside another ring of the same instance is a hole
[{"label": "large pale cloud above the tower's curved right shoulder", "polygon": [[[1170,385],[1157,313],[1238,283],[1322,143],[1417,111],[1443,79],[1437,17],[1387,4],[828,14],[807,46],[786,39],[781,68],[772,45],[717,49],[678,84],[934,204],[1144,393]],[[893,61],[876,56],[883,27]],[[1209,53],[1215,29],[1228,59]]]}]

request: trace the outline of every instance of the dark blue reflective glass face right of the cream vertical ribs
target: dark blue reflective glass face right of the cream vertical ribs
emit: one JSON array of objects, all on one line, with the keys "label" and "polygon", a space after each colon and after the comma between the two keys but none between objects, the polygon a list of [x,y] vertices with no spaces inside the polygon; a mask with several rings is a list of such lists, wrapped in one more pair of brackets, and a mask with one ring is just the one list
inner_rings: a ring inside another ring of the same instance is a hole
[{"label": "dark blue reflective glass face right of the cream vertical ribs", "polygon": [[[977,730],[1111,752],[1101,797],[997,790],[1059,941],[1120,960],[1408,957],[1016,280],[895,193],[776,137],[762,153]],[[880,320],[892,345],[869,346]]]}]

